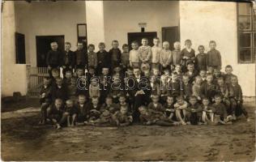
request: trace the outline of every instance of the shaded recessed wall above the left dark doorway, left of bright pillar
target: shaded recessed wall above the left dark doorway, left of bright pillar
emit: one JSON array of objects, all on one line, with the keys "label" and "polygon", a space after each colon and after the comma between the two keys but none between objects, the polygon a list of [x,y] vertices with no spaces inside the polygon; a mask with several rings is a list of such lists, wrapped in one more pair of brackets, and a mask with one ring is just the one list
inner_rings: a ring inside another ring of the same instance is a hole
[{"label": "shaded recessed wall above the left dark doorway, left of bright pillar", "polygon": [[15,2],[16,31],[25,34],[26,60],[36,66],[36,36],[64,35],[76,49],[77,23],[86,23],[85,2]]}]

